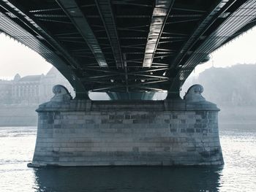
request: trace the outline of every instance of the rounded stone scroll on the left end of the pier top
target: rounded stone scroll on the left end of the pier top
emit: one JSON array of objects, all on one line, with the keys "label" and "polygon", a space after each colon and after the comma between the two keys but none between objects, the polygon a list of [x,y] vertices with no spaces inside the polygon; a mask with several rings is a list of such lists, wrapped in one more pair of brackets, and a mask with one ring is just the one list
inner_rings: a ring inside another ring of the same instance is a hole
[{"label": "rounded stone scroll on the left end of the pier top", "polygon": [[62,101],[70,101],[72,100],[72,96],[70,95],[67,88],[63,85],[54,85],[53,86],[54,96],[50,101],[62,102]]}]

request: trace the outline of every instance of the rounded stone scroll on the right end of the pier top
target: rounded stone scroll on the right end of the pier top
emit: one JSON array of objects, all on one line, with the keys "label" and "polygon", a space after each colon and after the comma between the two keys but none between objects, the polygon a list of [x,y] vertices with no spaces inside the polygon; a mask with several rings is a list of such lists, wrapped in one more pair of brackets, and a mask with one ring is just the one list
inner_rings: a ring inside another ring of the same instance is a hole
[{"label": "rounded stone scroll on the right end of the pier top", "polygon": [[201,93],[203,93],[202,85],[192,85],[185,94],[184,99],[190,102],[206,101],[206,99],[201,95]]}]

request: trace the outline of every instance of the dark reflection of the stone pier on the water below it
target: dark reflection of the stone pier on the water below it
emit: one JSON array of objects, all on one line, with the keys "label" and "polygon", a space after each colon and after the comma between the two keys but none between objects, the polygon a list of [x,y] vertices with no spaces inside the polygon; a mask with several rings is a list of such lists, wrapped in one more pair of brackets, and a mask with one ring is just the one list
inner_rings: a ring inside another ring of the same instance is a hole
[{"label": "dark reflection of the stone pier on the water below it", "polygon": [[217,191],[215,168],[83,167],[34,171],[40,191]]}]

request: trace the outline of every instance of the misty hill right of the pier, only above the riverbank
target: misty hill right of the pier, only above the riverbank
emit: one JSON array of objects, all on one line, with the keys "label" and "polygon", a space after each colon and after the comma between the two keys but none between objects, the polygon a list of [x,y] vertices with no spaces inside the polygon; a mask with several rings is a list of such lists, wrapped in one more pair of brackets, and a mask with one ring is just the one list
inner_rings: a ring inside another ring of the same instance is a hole
[{"label": "misty hill right of the pier, only above the riverbank", "polygon": [[211,67],[197,79],[188,80],[183,89],[195,83],[203,85],[203,96],[208,101],[227,106],[256,106],[256,64]]}]

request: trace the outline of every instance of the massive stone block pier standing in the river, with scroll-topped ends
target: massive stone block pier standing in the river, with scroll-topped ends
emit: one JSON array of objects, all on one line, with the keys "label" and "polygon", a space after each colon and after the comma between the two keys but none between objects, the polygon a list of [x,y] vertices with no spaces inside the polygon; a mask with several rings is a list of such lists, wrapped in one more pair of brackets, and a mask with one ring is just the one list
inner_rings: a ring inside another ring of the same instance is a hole
[{"label": "massive stone block pier standing in the river, with scroll-topped ends", "polygon": [[72,100],[57,86],[41,104],[30,166],[223,164],[216,104],[193,85],[184,99]]}]

